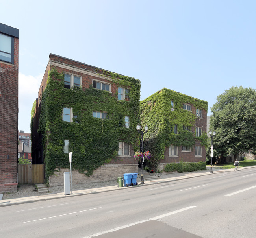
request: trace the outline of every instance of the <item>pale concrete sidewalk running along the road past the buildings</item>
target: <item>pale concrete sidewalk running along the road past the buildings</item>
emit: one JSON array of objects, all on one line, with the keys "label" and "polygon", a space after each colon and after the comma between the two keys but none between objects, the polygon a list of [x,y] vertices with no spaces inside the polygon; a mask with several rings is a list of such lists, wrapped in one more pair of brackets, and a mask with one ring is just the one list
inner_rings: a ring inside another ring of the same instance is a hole
[{"label": "pale concrete sidewalk running along the road past the buildings", "polygon": [[[247,168],[255,168],[256,166],[249,166],[249,167],[242,167],[240,170],[247,169]],[[210,167],[207,167],[206,170],[199,170],[194,172],[185,172],[185,173],[170,173],[165,174],[160,177],[152,176],[150,180],[144,179],[145,184],[140,185],[140,177],[138,177],[137,182],[138,186],[148,186],[152,184],[160,184],[160,183],[168,183],[172,181],[182,180],[182,179],[189,179],[191,177],[201,177],[206,175],[215,175],[217,173],[223,172],[233,172],[233,169],[221,169],[213,166],[213,173],[210,173]],[[239,173],[239,172],[238,172]],[[146,176],[145,176],[146,177]],[[148,178],[148,177],[147,177]],[[13,199],[4,199],[0,200],[0,207],[21,204],[21,203],[32,203],[35,201],[46,201],[50,199],[58,199],[63,197],[72,197],[72,196],[81,196],[86,194],[95,194],[100,192],[109,192],[115,191],[120,189],[132,189],[133,187],[117,187],[117,181],[109,181],[109,182],[102,182],[102,183],[86,183],[86,184],[72,184],[72,194],[64,195],[64,186],[54,186],[50,187],[49,191],[52,192],[51,194],[43,194],[31,197],[20,197],[20,198],[13,198]],[[54,193],[55,192],[55,193]],[[70,186],[71,192],[71,186]]]}]

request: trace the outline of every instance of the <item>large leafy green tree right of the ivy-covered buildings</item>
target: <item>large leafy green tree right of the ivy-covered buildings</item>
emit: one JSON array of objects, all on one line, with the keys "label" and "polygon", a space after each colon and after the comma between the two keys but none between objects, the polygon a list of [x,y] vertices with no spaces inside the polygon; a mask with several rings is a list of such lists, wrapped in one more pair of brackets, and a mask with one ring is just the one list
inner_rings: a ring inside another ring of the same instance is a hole
[{"label": "large leafy green tree right of the ivy-covered buildings", "polygon": [[211,108],[210,129],[216,132],[214,149],[223,158],[242,151],[256,151],[256,92],[231,87],[217,96]]}]

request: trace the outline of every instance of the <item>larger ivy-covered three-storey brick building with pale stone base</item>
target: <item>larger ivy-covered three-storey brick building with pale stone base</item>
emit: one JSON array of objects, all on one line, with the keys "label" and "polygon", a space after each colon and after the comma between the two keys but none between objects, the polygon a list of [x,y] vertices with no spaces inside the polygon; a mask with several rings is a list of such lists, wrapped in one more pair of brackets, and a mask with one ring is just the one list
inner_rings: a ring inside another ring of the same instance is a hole
[{"label": "larger ivy-covered three-storey brick building with pale stone base", "polygon": [[50,185],[104,181],[137,172],[140,81],[50,54],[32,108],[32,163]]}]

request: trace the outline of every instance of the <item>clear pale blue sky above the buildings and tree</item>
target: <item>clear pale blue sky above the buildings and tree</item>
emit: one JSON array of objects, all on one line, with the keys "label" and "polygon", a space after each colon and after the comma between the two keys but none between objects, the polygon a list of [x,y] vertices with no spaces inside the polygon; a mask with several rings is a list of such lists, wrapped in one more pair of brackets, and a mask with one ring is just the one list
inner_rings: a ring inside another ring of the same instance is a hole
[{"label": "clear pale blue sky above the buildings and tree", "polygon": [[208,101],[255,86],[255,0],[0,0],[0,22],[19,29],[19,130],[49,54]]}]

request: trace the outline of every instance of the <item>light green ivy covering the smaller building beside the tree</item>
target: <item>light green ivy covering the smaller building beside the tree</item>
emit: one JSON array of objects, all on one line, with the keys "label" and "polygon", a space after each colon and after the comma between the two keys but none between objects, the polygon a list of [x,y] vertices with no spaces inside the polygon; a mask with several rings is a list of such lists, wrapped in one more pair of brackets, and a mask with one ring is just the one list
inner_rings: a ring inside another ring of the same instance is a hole
[{"label": "light green ivy covering the smaller building beside the tree", "polygon": [[[171,101],[174,101],[174,111],[171,111]],[[193,104],[206,112],[208,109],[206,101],[165,88],[141,101],[142,127],[148,125],[149,128],[144,139],[145,149],[152,154],[152,159],[147,165],[150,169],[157,168],[160,160],[164,159],[165,148],[170,144],[193,147],[195,140],[199,140],[201,145],[207,145],[206,133],[195,137],[195,133],[183,130],[183,125],[191,128],[198,120],[190,111],[183,109],[184,103]],[[175,124],[178,134],[174,134]]]}]

